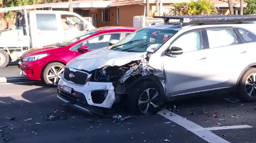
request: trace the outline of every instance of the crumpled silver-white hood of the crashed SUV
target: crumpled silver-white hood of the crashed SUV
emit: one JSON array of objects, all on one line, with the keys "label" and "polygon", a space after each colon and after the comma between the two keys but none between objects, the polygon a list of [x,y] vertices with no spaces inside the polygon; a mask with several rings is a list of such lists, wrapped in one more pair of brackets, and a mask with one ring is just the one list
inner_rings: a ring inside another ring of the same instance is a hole
[{"label": "crumpled silver-white hood of the crashed SUV", "polygon": [[121,66],[132,61],[141,60],[143,55],[146,55],[146,52],[120,52],[103,47],[74,58],[66,67],[92,71],[105,66]]}]

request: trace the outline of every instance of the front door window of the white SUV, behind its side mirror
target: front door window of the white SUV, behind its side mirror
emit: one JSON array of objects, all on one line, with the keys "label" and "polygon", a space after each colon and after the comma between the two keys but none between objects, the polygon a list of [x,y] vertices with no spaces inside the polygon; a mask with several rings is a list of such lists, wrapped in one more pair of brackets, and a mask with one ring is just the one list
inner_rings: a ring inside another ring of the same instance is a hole
[{"label": "front door window of the white SUV, behind its side mirror", "polygon": [[183,52],[201,50],[201,32],[193,31],[185,33],[175,40],[170,47],[177,46],[183,49]]}]

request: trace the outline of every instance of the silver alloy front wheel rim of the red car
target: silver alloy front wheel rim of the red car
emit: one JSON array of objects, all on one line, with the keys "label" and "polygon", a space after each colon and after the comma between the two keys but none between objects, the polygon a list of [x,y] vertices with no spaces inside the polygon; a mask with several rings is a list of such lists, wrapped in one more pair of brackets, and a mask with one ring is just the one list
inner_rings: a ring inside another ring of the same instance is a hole
[{"label": "silver alloy front wheel rim of the red car", "polygon": [[61,78],[63,71],[64,71],[64,68],[61,66],[52,66],[47,71],[47,80],[52,85],[58,85],[58,81]]}]

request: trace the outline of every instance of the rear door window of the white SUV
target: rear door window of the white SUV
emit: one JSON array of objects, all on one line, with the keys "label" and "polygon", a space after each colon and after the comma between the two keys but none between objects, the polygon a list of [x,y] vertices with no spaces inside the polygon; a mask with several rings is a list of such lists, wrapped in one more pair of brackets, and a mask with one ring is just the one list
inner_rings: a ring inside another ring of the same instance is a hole
[{"label": "rear door window of the white SUV", "polygon": [[237,44],[236,36],[231,29],[209,29],[206,33],[210,49]]}]

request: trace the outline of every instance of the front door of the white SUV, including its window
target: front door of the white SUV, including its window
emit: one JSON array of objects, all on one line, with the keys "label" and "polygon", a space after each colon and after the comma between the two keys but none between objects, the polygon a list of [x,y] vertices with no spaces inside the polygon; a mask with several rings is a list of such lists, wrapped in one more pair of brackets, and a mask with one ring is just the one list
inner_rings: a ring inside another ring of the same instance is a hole
[{"label": "front door of the white SUV, including its window", "polygon": [[212,79],[210,50],[204,50],[204,30],[194,30],[181,34],[171,44],[183,49],[182,55],[163,56],[167,96],[193,93],[216,84]]}]

